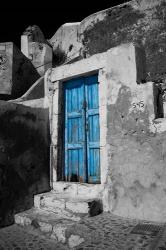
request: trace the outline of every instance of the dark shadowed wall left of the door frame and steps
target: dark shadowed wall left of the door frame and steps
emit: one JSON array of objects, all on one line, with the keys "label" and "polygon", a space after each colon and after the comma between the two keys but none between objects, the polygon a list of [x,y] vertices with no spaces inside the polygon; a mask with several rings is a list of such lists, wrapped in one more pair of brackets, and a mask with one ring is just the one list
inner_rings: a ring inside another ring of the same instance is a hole
[{"label": "dark shadowed wall left of the door frame and steps", "polygon": [[0,227],[49,191],[48,110],[0,102]]}]

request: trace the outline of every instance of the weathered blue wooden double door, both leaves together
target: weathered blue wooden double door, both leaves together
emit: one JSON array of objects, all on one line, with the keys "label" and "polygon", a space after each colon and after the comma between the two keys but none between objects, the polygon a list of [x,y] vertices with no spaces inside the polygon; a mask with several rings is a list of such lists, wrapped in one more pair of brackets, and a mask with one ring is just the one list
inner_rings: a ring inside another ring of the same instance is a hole
[{"label": "weathered blue wooden double door, both leaves together", "polygon": [[97,75],[64,83],[65,180],[100,182]]}]

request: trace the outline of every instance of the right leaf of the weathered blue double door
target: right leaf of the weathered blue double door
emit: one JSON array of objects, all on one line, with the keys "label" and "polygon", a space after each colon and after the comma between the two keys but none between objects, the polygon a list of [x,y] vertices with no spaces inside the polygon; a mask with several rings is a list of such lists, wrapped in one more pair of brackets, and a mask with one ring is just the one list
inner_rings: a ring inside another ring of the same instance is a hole
[{"label": "right leaf of the weathered blue double door", "polygon": [[100,127],[98,78],[85,79],[88,183],[100,183]]}]

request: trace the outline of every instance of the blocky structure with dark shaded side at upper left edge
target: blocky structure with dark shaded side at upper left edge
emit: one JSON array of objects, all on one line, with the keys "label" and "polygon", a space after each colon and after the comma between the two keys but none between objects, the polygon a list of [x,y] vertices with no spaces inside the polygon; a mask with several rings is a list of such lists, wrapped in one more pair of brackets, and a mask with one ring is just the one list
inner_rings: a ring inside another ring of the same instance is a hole
[{"label": "blocky structure with dark shaded side at upper left edge", "polygon": [[22,96],[39,77],[30,60],[12,42],[0,44],[0,99]]}]

